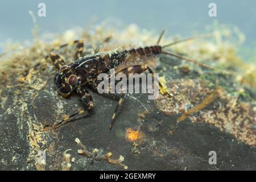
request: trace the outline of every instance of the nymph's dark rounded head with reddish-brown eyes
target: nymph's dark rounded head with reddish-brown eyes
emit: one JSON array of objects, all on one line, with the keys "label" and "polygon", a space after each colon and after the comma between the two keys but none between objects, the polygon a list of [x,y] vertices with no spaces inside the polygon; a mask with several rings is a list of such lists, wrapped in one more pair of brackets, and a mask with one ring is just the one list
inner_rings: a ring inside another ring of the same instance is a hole
[{"label": "nymph's dark rounded head with reddish-brown eyes", "polygon": [[75,72],[68,65],[63,65],[54,77],[54,84],[57,92],[68,95],[76,88],[77,80]]}]

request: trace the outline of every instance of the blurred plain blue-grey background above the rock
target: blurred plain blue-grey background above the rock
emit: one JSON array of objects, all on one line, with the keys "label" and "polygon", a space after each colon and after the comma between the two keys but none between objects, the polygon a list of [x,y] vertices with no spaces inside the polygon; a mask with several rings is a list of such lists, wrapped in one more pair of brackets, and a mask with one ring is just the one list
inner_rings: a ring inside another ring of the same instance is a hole
[{"label": "blurred plain blue-grey background above the rock", "polygon": [[[46,17],[39,17],[38,4],[46,4]],[[209,3],[216,3],[217,16],[208,15]],[[1,1],[0,2],[0,53],[7,40],[31,40],[33,28],[31,10],[39,26],[39,33],[64,32],[73,27],[85,27],[95,20],[112,19],[124,27],[135,23],[140,28],[160,32],[166,28],[168,35],[190,36],[206,32],[213,22],[238,27],[245,35],[240,53],[255,57],[256,1],[232,0],[98,0],[98,1]]]}]

